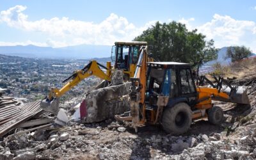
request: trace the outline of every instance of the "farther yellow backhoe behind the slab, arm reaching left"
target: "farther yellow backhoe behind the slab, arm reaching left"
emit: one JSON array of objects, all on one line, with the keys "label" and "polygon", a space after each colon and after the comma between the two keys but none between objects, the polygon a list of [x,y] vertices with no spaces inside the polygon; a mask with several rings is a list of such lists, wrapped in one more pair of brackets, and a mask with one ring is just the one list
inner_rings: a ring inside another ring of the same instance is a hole
[{"label": "farther yellow backhoe behind the slab, arm reaching left", "polygon": [[[115,61],[113,66],[111,66],[110,61],[107,62],[106,67],[95,60],[90,61],[83,69],[76,70],[70,77],[65,79],[63,81],[65,85],[61,89],[51,88],[49,95],[41,101],[41,108],[53,114],[58,113],[60,97],[68,92],[68,90],[74,88],[83,79],[90,76],[96,76],[105,80],[97,88],[108,86],[113,80],[111,76],[115,70],[121,70],[124,80],[129,81],[130,77],[134,76],[135,66],[140,56],[140,49],[145,49],[146,46],[147,42],[115,42],[111,52],[111,59]],[[103,70],[106,70],[106,72]]]}]

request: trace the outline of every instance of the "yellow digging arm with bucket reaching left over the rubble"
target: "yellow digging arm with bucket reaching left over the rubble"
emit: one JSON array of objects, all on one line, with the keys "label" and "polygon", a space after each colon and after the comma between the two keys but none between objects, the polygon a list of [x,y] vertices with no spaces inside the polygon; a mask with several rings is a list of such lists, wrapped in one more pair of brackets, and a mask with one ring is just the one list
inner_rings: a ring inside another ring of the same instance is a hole
[{"label": "yellow digging arm with bucket reaching left over the rubble", "polygon": [[[100,67],[106,69],[107,73],[105,74]],[[83,79],[90,76],[97,76],[100,79],[111,81],[111,63],[107,62],[107,67],[104,67],[103,65],[100,65],[100,63],[97,63],[97,61],[90,61],[90,63],[88,63],[82,70],[77,70],[70,77],[65,79],[63,83],[66,84],[60,90],[58,88],[52,88],[48,97],[45,97],[45,99],[41,101],[41,108],[56,114],[59,108],[60,97],[74,88],[74,86],[79,84]]]}]

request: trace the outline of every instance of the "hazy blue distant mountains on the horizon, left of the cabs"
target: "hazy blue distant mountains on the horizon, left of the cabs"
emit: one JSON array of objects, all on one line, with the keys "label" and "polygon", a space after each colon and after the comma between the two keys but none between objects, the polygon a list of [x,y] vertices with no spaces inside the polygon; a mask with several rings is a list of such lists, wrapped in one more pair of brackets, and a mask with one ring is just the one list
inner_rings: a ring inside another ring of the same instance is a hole
[{"label": "hazy blue distant mountains on the horizon, left of the cabs", "polygon": [[69,47],[38,47],[35,45],[0,46],[0,54],[26,58],[105,58],[111,56],[110,45],[76,45]]}]

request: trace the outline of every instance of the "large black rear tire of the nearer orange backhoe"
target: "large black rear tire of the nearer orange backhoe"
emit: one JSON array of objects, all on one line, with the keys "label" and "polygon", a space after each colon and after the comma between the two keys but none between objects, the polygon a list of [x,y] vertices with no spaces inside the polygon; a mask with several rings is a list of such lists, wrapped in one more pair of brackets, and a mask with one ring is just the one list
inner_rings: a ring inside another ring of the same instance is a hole
[{"label": "large black rear tire of the nearer orange backhoe", "polygon": [[162,125],[164,131],[172,134],[183,134],[188,131],[192,122],[192,111],[188,104],[182,102],[172,108],[164,109]]}]

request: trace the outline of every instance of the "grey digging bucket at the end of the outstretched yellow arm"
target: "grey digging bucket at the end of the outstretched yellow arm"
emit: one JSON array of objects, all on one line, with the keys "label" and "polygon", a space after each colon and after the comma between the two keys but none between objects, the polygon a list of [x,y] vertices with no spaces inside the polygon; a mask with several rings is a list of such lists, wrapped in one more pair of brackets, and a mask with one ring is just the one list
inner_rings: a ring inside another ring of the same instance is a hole
[{"label": "grey digging bucket at the end of the outstretched yellow arm", "polygon": [[54,98],[52,100],[49,100],[47,99],[47,97],[45,97],[45,99],[41,101],[40,107],[44,111],[57,115],[59,111],[59,103],[60,103],[60,98]]}]

